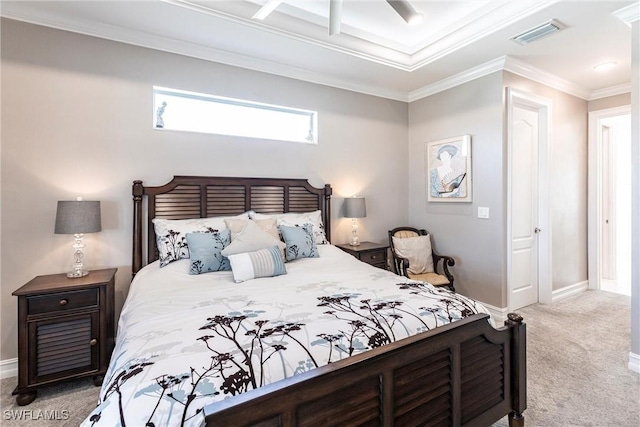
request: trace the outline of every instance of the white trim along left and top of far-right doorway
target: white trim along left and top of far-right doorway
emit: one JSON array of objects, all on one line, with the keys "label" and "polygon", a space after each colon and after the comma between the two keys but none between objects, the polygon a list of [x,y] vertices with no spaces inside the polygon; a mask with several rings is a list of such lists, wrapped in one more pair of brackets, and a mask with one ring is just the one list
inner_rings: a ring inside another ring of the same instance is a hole
[{"label": "white trim along left and top of far-right doorway", "polygon": [[589,289],[599,290],[602,279],[602,121],[610,117],[631,114],[631,105],[589,111],[588,194],[587,194],[587,260]]}]

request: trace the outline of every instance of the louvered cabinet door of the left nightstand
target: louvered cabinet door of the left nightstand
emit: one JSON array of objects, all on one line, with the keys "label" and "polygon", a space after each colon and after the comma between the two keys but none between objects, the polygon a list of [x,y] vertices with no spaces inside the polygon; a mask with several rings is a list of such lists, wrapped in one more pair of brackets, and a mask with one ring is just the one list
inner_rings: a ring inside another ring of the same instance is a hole
[{"label": "louvered cabinet door of the left nightstand", "polygon": [[29,322],[29,383],[97,372],[99,312]]}]

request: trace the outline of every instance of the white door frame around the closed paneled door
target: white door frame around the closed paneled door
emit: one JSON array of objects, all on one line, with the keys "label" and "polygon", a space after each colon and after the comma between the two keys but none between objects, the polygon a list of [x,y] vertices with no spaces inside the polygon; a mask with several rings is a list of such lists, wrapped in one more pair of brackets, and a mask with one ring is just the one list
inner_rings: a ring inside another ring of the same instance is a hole
[{"label": "white door frame around the closed paneled door", "polygon": [[513,108],[516,105],[525,105],[538,110],[538,301],[541,303],[552,302],[552,229],[549,205],[549,147],[551,146],[551,118],[553,114],[553,102],[542,96],[507,87],[507,307],[511,310],[512,292],[512,212],[511,203],[513,191],[511,187],[512,154],[513,154]]}]

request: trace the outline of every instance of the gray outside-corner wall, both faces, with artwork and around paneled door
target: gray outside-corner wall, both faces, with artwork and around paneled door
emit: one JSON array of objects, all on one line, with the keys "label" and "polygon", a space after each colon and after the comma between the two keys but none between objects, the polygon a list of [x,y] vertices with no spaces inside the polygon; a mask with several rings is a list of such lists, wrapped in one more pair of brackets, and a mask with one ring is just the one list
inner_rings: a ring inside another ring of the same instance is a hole
[{"label": "gray outside-corner wall, both faces, with artwork and around paneled door", "polygon": [[[409,220],[456,258],[456,288],[495,307],[506,295],[504,97],[512,87],[553,102],[549,165],[552,289],[587,280],[587,102],[509,72],[496,72],[409,106]],[[472,136],[472,203],[427,203],[425,143]],[[478,219],[488,207],[490,218]]]}]

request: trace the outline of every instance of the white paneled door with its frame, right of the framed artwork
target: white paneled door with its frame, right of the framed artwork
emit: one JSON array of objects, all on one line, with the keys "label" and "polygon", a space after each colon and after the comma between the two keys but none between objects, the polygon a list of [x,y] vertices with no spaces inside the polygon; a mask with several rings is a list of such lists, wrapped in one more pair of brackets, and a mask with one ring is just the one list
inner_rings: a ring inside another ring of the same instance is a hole
[{"label": "white paneled door with its frame, right of the framed artwork", "polygon": [[551,302],[549,99],[507,88],[507,305]]}]

